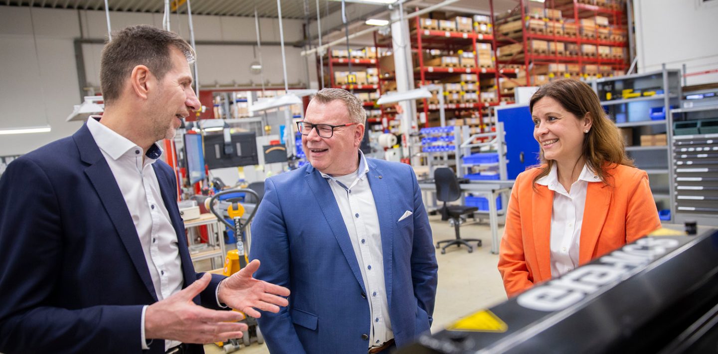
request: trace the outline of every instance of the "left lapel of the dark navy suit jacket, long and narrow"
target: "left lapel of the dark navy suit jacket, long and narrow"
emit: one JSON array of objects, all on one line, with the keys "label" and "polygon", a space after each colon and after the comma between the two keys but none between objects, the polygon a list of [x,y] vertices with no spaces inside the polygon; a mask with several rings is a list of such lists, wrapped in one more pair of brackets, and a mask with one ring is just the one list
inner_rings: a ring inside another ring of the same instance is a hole
[{"label": "left lapel of the dark navy suit jacket, long and narrow", "polygon": [[127,210],[125,198],[122,195],[120,187],[117,185],[110,166],[102,156],[100,148],[95,144],[95,139],[92,134],[90,134],[87,124],[73,135],[73,139],[75,140],[75,144],[78,145],[80,159],[90,165],[85,168],[85,174],[90,179],[98,197],[100,197],[144,286],[154,300],[157,301],[157,294],[154,292],[154,285],[149,275],[147,261],[144,258],[144,252],[139,243],[139,236],[137,236],[137,230],[132,222],[132,217],[129,210]]}]

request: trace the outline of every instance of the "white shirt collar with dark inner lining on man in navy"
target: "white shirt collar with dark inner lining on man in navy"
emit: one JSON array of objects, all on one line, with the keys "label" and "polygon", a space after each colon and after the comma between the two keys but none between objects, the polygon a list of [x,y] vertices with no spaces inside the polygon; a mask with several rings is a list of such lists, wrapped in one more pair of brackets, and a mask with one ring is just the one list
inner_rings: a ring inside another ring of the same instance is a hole
[{"label": "white shirt collar with dark inner lining on man in navy", "polygon": [[[137,146],[137,144],[134,144],[126,137],[121,136],[116,131],[101,124],[101,118],[101,116],[90,116],[88,119],[88,129],[95,139],[95,143],[103,152],[106,152],[113,160],[119,159],[133,149],[135,152],[131,154],[139,154],[142,152],[142,148]],[[150,159],[151,162],[154,162],[162,156],[162,149],[157,143],[154,143],[149,146],[144,156]]]}]

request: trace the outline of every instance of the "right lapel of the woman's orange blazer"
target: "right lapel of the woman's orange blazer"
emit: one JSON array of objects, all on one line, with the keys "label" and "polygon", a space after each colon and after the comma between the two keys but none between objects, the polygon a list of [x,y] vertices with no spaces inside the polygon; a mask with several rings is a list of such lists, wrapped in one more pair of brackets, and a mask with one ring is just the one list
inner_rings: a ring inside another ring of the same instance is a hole
[{"label": "right lapel of the woman's orange blazer", "polygon": [[589,182],[586,190],[584,218],[581,225],[579,264],[586,264],[591,260],[603,222],[608,214],[611,195],[611,188],[607,185],[601,182]]}]

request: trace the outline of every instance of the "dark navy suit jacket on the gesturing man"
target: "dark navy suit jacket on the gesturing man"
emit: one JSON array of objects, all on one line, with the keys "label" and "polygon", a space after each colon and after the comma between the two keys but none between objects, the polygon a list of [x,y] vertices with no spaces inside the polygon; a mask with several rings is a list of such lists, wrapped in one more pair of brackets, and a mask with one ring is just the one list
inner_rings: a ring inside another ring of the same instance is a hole
[{"label": "dark navy suit jacket on the gesturing man", "polygon": [[[162,161],[153,167],[186,287],[201,274],[187,251],[174,172]],[[217,307],[221,279],[195,302]],[[86,125],[2,175],[0,289],[2,353],[143,353],[141,309],[157,295],[122,192]],[[146,353],[164,353],[164,341]]]}]

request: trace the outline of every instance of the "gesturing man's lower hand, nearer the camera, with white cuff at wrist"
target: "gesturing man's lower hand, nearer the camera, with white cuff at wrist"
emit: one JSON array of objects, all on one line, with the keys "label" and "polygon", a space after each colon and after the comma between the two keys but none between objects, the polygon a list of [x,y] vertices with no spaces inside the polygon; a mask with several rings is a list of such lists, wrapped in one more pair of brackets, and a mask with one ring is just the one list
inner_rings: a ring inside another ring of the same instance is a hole
[{"label": "gesturing man's lower hand, nearer the camera, with white cuff at wrist", "polygon": [[192,302],[210,284],[211,279],[210,274],[205,274],[181,292],[149,305],[144,313],[146,339],[212,343],[242,337],[242,331],[247,330],[247,325],[236,322],[243,320],[241,313],[215,311]]}]

